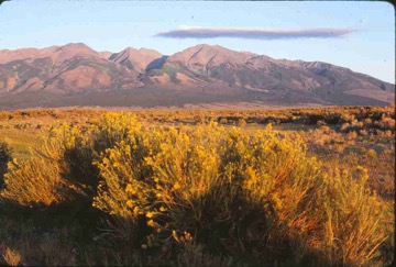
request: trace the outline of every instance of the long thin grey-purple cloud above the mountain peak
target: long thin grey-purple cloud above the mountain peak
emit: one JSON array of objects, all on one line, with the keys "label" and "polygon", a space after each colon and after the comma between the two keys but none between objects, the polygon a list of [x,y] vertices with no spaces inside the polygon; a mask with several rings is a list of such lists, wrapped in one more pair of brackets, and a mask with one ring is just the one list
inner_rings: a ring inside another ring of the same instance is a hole
[{"label": "long thin grey-purple cloud above the mountain peak", "polygon": [[166,38],[252,38],[252,40],[285,40],[285,38],[339,38],[356,30],[342,27],[319,27],[302,30],[278,29],[243,29],[243,27],[201,27],[180,26],[177,30],[157,33],[155,36]]}]

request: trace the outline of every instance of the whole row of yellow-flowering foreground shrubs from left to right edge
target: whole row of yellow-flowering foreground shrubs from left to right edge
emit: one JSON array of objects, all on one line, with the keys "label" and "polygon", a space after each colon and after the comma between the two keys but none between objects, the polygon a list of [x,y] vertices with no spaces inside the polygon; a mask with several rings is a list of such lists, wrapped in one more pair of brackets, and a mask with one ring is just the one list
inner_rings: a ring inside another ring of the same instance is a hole
[{"label": "whole row of yellow-flowering foreground shrubs from left to right edge", "polygon": [[153,265],[367,266],[391,259],[394,230],[366,180],[363,169],[324,169],[298,135],[271,127],[142,126],[107,113],[51,131],[31,159],[10,164],[2,196],[82,199],[108,214],[113,249]]}]

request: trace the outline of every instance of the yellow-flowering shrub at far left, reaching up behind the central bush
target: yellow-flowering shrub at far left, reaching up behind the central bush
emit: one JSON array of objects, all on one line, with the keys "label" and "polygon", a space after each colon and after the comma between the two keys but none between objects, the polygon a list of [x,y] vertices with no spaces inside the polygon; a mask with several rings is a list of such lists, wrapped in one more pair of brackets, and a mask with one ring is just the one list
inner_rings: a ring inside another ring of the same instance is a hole
[{"label": "yellow-flowering shrub at far left, reaching up behind the central bush", "polygon": [[91,127],[63,124],[52,129],[31,159],[11,165],[3,197],[22,205],[73,201],[91,205],[99,182],[94,160],[135,124],[131,114],[108,113]]}]

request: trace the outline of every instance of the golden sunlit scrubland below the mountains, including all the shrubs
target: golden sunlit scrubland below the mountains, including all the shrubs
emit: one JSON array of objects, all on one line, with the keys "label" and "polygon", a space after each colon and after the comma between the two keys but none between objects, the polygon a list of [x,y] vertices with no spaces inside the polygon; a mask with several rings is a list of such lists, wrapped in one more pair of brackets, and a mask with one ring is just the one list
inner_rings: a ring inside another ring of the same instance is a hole
[{"label": "golden sunlit scrubland below the mountains, including all the shrubs", "polygon": [[395,108],[0,112],[0,265],[387,266]]}]

